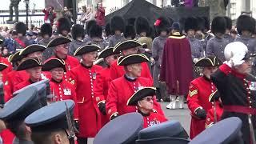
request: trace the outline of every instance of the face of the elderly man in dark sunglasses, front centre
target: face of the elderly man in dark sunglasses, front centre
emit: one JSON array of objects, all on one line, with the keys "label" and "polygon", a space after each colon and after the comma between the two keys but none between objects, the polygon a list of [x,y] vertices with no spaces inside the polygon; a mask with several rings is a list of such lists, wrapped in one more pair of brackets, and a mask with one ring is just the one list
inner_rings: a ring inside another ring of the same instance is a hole
[{"label": "face of the elderly man in dark sunglasses, front centre", "polygon": [[139,109],[151,111],[153,110],[153,106],[154,106],[153,103],[154,103],[154,97],[147,96],[146,98],[142,98],[142,100],[138,101],[138,107]]}]

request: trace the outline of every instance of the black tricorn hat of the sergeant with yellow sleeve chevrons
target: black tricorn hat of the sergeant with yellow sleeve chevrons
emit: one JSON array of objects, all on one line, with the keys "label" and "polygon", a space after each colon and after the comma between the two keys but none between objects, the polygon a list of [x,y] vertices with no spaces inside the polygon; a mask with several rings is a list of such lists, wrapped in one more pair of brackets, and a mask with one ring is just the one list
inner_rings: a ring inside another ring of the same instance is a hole
[{"label": "black tricorn hat of the sergeant with yellow sleeve chevrons", "polygon": [[202,66],[202,67],[220,66],[220,65],[222,65],[222,61],[215,56],[207,56],[204,58],[200,58],[198,62],[194,64],[194,66]]}]

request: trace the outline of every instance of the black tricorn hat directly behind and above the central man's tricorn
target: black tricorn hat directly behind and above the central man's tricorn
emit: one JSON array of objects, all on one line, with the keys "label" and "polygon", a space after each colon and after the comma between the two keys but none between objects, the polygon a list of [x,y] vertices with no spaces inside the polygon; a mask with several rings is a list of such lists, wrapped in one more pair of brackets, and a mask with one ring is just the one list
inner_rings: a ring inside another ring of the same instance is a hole
[{"label": "black tricorn hat directly behind and above the central man's tricorn", "polygon": [[141,42],[138,42],[137,40],[126,40],[124,42],[119,42],[114,46],[114,52],[119,52],[121,50],[127,50],[130,48],[142,46]]}]

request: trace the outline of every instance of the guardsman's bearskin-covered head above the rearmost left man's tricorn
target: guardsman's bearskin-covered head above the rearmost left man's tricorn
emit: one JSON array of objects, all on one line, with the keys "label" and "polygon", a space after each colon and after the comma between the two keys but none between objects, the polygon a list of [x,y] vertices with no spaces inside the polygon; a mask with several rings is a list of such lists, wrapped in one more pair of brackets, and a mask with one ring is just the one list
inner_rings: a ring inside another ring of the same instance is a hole
[{"label": "guardsman's bearskin-covered head above the rearmost left man's tricorn", "polygon": [[64,17],[58,18],[57,31],[58,31],[59,36],[71,38],[71,36],[69,34],[70,30],[71,30],[71,26],[72,25],[68,18],[64,18]]}]

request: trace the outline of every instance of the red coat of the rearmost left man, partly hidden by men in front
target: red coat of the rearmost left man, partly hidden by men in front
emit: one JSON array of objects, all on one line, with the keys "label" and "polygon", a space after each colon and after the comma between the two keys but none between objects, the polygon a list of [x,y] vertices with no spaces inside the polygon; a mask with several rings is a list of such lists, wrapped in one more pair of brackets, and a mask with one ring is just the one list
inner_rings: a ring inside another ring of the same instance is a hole
[{"label": "red coat of the rearmost left man, partly hidden by men in front", "polygon": [[[58,58],[57,56],[52,56],[51,58]],[[63,59],[65,61],[65,67],[66,67],[66,72],[64,72],[64,79],[66,81],[71,81],[70,79],[70,70],[72,70],[74,67],[79,65],[78,58],[74,58],[70,55],[66,56],[66,59]]]}]

